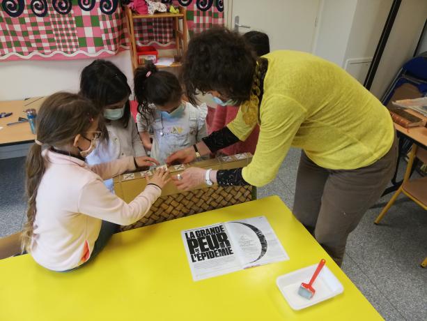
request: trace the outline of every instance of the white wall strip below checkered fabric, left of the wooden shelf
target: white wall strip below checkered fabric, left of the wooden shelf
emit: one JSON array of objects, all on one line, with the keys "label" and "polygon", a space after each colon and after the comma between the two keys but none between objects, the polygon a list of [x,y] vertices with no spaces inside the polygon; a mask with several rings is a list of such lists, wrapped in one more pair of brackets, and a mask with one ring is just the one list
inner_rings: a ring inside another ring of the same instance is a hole
[{"label": "white wall strip below checkered fabric, left of the wooden shelf", "polygon": [[[0,100],[45,96],[56,91],[77,92],[81,70],[93,60],[0,61]],[[129,82],[133,81],[129,50],[107,60],[116,64]]]}]

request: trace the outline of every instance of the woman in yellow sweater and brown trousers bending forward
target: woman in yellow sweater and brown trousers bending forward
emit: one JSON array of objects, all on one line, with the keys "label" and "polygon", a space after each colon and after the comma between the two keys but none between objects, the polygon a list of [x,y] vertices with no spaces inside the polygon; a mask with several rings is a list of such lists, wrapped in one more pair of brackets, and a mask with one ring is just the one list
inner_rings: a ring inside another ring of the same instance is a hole
[{"label": "woman in yellow sweater and brown trousers bending forward", "polygon": [[168,163],[189,163],[260,135],[251,163],[238,170],[192,167],[176,185],[263,186],[274,179],[288,149],[302,149],[293,214],[341,265],[348,234],[380,197],[394,172],[396,136],[387,109],[338,66],[311,54],[271,52],[256,59],[244,39],[226,29],[193,38],[182,78],[190,102],[196,92],[223,105],[240,105],[238,116]]}]

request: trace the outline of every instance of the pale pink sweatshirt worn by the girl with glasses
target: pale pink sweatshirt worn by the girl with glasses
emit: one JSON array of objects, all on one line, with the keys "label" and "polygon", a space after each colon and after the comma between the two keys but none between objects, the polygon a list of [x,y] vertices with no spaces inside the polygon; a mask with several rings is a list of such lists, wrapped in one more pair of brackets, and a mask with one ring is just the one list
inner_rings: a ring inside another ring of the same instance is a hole
[{"label": "pale pink sweatshirt worn by the girl with glasses", "polygon": [[43,174],[36,197],[31,255],[54,271],[79,266],[91,257],[102,220],[128,225],[143,217],[162,191],[154,185],[127,204],[104,185],[126,170],[133,157],[89,166],[83,160],[53,151],[42,152]]}]

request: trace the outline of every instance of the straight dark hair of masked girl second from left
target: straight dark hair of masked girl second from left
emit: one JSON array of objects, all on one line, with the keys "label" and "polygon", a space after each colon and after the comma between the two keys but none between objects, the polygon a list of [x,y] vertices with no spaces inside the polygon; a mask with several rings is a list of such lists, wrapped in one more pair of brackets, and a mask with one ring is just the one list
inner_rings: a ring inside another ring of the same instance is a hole
[{"label": "straight dark hair of masked girl second from left", "polygon": [[[118,103],[129,97],[131,93],[125,74],[110,61],[97,59],[81,72],[79,94],[90,99],[101,113],[105,106]],[[130,103],[127,101],[125,113],[119,119],[123,128],[129,124],[129,117]],[[109,120],[106,119],[106,121]],[[101,130],[107,134],[106,128]]]}]

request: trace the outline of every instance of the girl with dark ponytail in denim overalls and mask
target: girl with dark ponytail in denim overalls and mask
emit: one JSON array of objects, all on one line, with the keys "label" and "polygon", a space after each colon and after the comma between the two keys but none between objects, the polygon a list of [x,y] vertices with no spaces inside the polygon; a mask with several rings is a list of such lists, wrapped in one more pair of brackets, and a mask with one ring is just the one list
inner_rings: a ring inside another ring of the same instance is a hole
[{"label": "girl with dark ponytail in denim overalls and mask", "polygon": [[183,89],[173,73],[158,71],[151,63],[137,68],[134,91],[139,104],[139,135],[144,147],[161,164],[174,151],[192,146],[206,136],[208,107],[206,104],[194,107],[183,101]]}]

